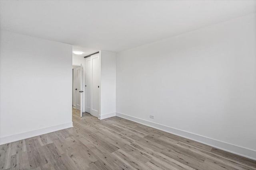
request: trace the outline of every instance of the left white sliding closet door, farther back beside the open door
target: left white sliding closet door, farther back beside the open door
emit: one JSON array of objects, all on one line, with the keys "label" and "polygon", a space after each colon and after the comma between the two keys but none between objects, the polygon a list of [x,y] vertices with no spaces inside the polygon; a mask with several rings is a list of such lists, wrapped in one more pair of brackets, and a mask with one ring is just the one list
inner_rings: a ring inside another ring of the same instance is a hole
[{"label": "left white sliding closet door, farther back beside the open door", "polygon": [[85,111],[91,113],[92,62],[91,57],[85,58]]}]

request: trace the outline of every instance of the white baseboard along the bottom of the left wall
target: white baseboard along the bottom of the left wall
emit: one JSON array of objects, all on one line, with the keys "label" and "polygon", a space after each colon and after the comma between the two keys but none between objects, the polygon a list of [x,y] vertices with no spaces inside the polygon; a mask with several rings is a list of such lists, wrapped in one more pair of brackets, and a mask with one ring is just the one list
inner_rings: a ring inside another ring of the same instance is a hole
[{"label": "white baseboard along the bottom of the left wall", "polygon": [[63,123],[63,124],[56,125],[56,126],[45,127],[45,128],[42,128],[42,129],[36,129],[36,130],[33,130],[33,131],[28,131],[28,132],[24,132],[24,133],[10,135],[10,136],[6,136],[6,137],[1,137],[0,138],[0,145],[15,142],[15,141],[20,141],[22,139],[35,137],[35,136],[43,135],[43,134],[46,134],[46,133],[59,131],[59,130],[66,129],[66,128],[69,128],[69,127],[73,127],[73,122]]}]

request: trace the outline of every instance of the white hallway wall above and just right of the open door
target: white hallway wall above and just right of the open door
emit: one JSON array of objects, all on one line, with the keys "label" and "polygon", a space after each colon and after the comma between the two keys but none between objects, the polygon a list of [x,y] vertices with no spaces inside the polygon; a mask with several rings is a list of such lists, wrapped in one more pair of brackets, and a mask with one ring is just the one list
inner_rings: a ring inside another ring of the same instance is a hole
[{"label": "white hallway wall above and just right of the open door", "polygon": [[[80,65],[82,64],[82,69],[83,69],[83,89],[82,91],[84,91],[85,89],[85,59],[84,59],[84,56],[76,56],[76,55],[73,55],[72,57],[72,64],[73,65]],[[85,92],[82,93],[83,95],[83,112],[85,112]]]}]

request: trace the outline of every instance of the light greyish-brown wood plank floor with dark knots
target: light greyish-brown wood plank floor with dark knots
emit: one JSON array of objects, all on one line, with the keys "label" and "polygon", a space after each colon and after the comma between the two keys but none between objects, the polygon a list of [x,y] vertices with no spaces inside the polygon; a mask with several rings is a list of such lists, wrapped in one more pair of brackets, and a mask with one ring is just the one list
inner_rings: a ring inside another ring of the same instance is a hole
[{"label": "light greyish-brown wood plank floor with dark knots", "polygon": [[74,127],[1,145],[0,169],[256,170],[256,161],[119,117],[80,118]]}]

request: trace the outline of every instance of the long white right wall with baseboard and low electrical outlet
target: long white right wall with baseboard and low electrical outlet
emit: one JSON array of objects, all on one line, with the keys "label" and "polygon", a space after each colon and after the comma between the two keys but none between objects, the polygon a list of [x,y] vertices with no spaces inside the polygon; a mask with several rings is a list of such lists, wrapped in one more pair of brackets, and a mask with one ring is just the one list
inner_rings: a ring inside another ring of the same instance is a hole
[{"label": "long white right wall with baseboard and low electrical outlet", "polygon": [[118,116],[256,159],[255,14],[123,51],[116,69]]}]

